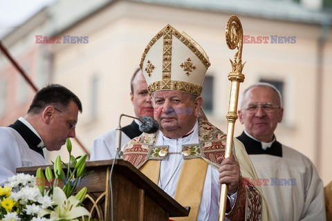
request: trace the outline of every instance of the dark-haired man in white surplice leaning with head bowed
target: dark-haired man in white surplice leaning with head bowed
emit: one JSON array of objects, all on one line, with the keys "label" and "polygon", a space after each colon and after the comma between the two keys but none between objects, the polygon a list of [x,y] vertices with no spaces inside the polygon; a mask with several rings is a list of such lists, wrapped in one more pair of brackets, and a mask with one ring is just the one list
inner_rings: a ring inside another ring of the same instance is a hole
[{"label": "dark-haired man in white surplice leaning with head bowed", "polygon": [[17,167],[46,164],[43,149],[58,151],[67,137],[75,137],[80,99],[59,84],[35,95],[28,113],[14,124],[0,127],[0,186]]}]

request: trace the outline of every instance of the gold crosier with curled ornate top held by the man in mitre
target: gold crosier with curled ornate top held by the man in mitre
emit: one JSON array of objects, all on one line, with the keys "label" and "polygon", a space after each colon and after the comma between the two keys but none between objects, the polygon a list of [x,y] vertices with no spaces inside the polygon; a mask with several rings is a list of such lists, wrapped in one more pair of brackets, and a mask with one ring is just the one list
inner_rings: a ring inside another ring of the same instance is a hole
[{"label": "gold crosier with curled ornate top held by the man in mitre", "polygon": [[[230,103],[228,105],[228,114],[226,115],[227,125],[227,140],[225,149],[225,158],[232,155],[232,145],[234,136],[234,125],[237,120],[237,101],[239,99],[240,83],[244,81],[242,69],[242,44],[243,44],[243,30],[240,19],[236,15],[232,15],[226,23],[226,43],[228,48],[234,50],[237,48],[237,53],[234,55],[234,62],[230,59],[232,64],[232,71],[228,74],[228,79],[231,81],[230,87]],[[227,200],[226,184],[221,185],[220,202],[219,202],[219,221],[225,220],[225,209]]]}]

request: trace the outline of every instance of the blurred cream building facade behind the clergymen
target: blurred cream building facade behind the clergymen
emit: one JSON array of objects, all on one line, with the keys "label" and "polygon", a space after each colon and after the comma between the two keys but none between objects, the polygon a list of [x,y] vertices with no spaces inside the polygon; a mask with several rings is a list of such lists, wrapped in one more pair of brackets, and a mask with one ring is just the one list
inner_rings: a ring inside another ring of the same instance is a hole
[{"label": "blurred cream building facade behind the clergymen", "polygon": [[[56,3],[51,15],[61,15],[62,7],[68,7],[64,1]],[[247,62],[240,93],[257,81],[278,86],[285,113],[277,139],[308,156],[324,184],[332,180],[328,142],[332,124],[328,116],[332,94],[331,17],[291,1],[98,1],[90,8],[73,12],[75,16],[68,17],[67,23],[55,22],[56,28],[46,33],[62,37],[61,44],[46,46],[51,55],[49,81],[68,86],[82,100],[84,111],[76,134],[86,148],[92,148],[95,137],[116,128],[121,113],[133,115],[131,75],[147,43],[167,23],[185,31],[210,57],[203,89],[205,110],[210,122],[226,131],[230,95],[227,75],[235,51],[225,44],[225,23],[230,15],[237,14],[245,35],[242,60]],[[89,42],[64,44],[64,36],[87,37]],[[2,77],[3,65],[0,68]],[[6,70],[3,73],[9,75]],[[4,119],[10,118],[3,116],[0,123],[6,125]],[[130,121],[123,119],[122,126]],[[237,122],[234,134],[242,130]],[[78,146],[76,149],[77,154],[82,153]]]}]

